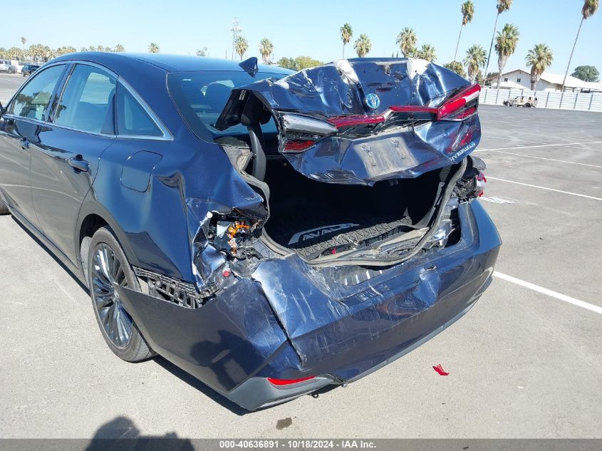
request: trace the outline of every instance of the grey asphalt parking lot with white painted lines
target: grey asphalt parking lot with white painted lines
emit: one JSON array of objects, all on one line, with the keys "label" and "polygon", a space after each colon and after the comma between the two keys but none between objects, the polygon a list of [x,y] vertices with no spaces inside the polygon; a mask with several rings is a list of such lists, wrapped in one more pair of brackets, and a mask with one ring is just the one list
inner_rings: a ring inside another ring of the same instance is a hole
[{"label": "grey asphalt parking lot with white painted lines", "polygon": [[[23,80],[0,75],[0,100]],[[602,113],[479,112],[504,242],[482,299],[347,388],[254,413],[115,357],[87,292],[0,217],[0,437],[602,437]]]}]

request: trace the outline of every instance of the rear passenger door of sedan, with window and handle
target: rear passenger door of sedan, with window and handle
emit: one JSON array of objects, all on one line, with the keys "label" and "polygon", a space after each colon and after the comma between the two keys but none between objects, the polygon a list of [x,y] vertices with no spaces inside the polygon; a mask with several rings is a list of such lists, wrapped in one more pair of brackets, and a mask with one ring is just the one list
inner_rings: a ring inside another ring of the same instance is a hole
[{"label": "rear passenger door of sedan, with window and handle", "polygon": [[100,154],[115,140],[116,83],[117,76],[105,68],[73,64],[31,156],[33,207],[43,233],[73,263],[79,209]]}]

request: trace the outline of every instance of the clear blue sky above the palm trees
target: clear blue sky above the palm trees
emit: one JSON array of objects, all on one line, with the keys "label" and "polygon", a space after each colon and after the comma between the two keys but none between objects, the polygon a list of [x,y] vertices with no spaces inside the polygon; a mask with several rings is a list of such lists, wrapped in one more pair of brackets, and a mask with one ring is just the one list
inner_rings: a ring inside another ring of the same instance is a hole
[{"label": "clear blue sky above the palm trees", "polygon": [[[479,43],[489,50],[496,14],[495,0],[473,0],[474,21],[462,31],[459,58]],[[147,51],[153,41],[164,53],[196,53],[207,47],[209,56],[223,58],[232,51],[232,19],[238,17],[242,35],[249,41],[246,56],[259,56],[261,38],[274,42],[274,57],[308,55],[322,61],[341,58],[339,28],[353,26],[353,40],[366,33],[373,49],[368,56],[397,52],[395,36],[405,26],[414,28],[418,45],[437,49],[437,63],[452,60],[460,29],[461,0],[293,0],[293,1],[139,1],[28,0],[4,2],[1,47],[43,43],[53,48],[71,45],[115,46],[126,51]],[[274,6],[268,6],[272,4]],[[88,6],[90,5],[90,6]],[[93,5],[93,6],[91,6]],[[519,27],[517,52],[506,70],[524,67],[524,56],[535,43],[547,43],[554,51],[549,71],[564,73],[581,20],[583,0],[514,0],[510,11],[499,17],[498,30],[506,23]],[[26,24],[26,26],[24,25]],[[353,44],[353,41],[352,43]],[[602,71],[602,11],[585,21],[571,63],[593,65]],[[348,45],[346,56],[354,56]],[[493,66],[493,67],[492,67]],[[492,58],[489,71],[497,70]]]}]

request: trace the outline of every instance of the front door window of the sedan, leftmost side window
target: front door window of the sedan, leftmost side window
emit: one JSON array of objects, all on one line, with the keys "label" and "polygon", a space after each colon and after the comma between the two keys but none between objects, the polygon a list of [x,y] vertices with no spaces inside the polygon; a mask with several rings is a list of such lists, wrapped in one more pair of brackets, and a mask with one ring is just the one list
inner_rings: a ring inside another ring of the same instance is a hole
[{"label": "front door window of the sedan, leftmost side window", "polygon": [[44,120],[44,110],[46,110],[64,70],[65,65],[61,64],[44,69],[32,76],[9,107],[10,113],[21,116],[21,118]]}]

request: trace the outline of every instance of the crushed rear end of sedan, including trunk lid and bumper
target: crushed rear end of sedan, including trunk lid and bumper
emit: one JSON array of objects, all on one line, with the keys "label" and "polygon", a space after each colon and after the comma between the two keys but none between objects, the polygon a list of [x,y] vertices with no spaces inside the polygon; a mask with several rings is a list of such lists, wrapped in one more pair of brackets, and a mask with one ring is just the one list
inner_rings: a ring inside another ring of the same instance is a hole
[{"label": "crushed rear end of sedan, including trunk lid and bumper", "polygon": [[214,128],[248,132],[216,140],[234,194],[181,188],[194,301],[117,288],[152,348],[252,410],[356,380],[460,318],[501,244],[475,200],[479,90],[393,58],[232,90]]}]

